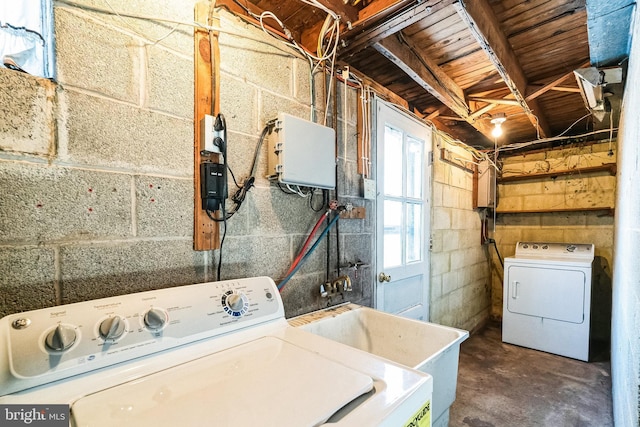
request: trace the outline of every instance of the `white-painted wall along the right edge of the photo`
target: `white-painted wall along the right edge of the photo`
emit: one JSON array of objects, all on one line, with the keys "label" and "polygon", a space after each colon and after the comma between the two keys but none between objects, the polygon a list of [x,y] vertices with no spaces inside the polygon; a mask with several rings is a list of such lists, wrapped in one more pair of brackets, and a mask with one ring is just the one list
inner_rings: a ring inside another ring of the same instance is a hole
[{"label": "white-painted wall along the right edge of the photo", "polygon": [[617,426],[640,425],[640,11],[636,8],[620,120],[615,217],[611,376]]}]

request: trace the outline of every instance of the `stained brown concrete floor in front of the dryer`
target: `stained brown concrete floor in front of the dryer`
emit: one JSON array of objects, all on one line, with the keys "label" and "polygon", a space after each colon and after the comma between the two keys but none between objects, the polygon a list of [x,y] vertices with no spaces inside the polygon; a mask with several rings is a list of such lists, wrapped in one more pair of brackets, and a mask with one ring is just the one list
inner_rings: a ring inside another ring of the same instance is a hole
[{"label": "stained brown concrete floor in front of the dryer", "polygon": [[463,342],[450,427],[613,426],[607,352],[581,362],[502,343],[499,323]]}]

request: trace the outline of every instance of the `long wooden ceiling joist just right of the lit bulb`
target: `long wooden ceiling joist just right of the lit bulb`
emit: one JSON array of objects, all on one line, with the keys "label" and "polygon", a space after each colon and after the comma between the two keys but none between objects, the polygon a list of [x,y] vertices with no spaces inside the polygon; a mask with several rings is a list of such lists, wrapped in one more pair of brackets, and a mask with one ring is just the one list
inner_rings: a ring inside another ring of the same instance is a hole
[{"label": "long wooden ceiling joist just right of the lit bulb", "polygon": [[460,0],[454,4],[458,15],[496,67],[505,84],[542,138],[551,136],[544,113],[534,99],[527,102],[527,78],[498,18],[487,0]]}]

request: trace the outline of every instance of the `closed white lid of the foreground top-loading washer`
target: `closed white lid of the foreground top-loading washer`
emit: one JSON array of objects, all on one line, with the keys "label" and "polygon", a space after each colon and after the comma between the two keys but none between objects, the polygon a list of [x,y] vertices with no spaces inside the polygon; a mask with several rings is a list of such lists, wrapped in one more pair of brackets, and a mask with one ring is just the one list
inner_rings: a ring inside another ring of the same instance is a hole
[{"label": "closed white lid of the foreground top-loading washer", "polygon": [[373,380],[264,337],[117,387],[71,407],[78,426],[314,426]]}]

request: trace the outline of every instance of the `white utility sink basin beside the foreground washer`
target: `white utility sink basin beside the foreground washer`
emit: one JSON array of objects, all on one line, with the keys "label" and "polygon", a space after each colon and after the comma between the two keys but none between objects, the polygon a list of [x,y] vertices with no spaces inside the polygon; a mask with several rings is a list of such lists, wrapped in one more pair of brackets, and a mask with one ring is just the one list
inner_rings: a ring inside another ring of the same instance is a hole
[{"label": "white utility sink basin beside the foreground washer", "polygon": [[357,304],[289,319],[292,326],[426,372],[433,377],[433,427],[447,426],[456,397],[460,343],[469,332]]}]

